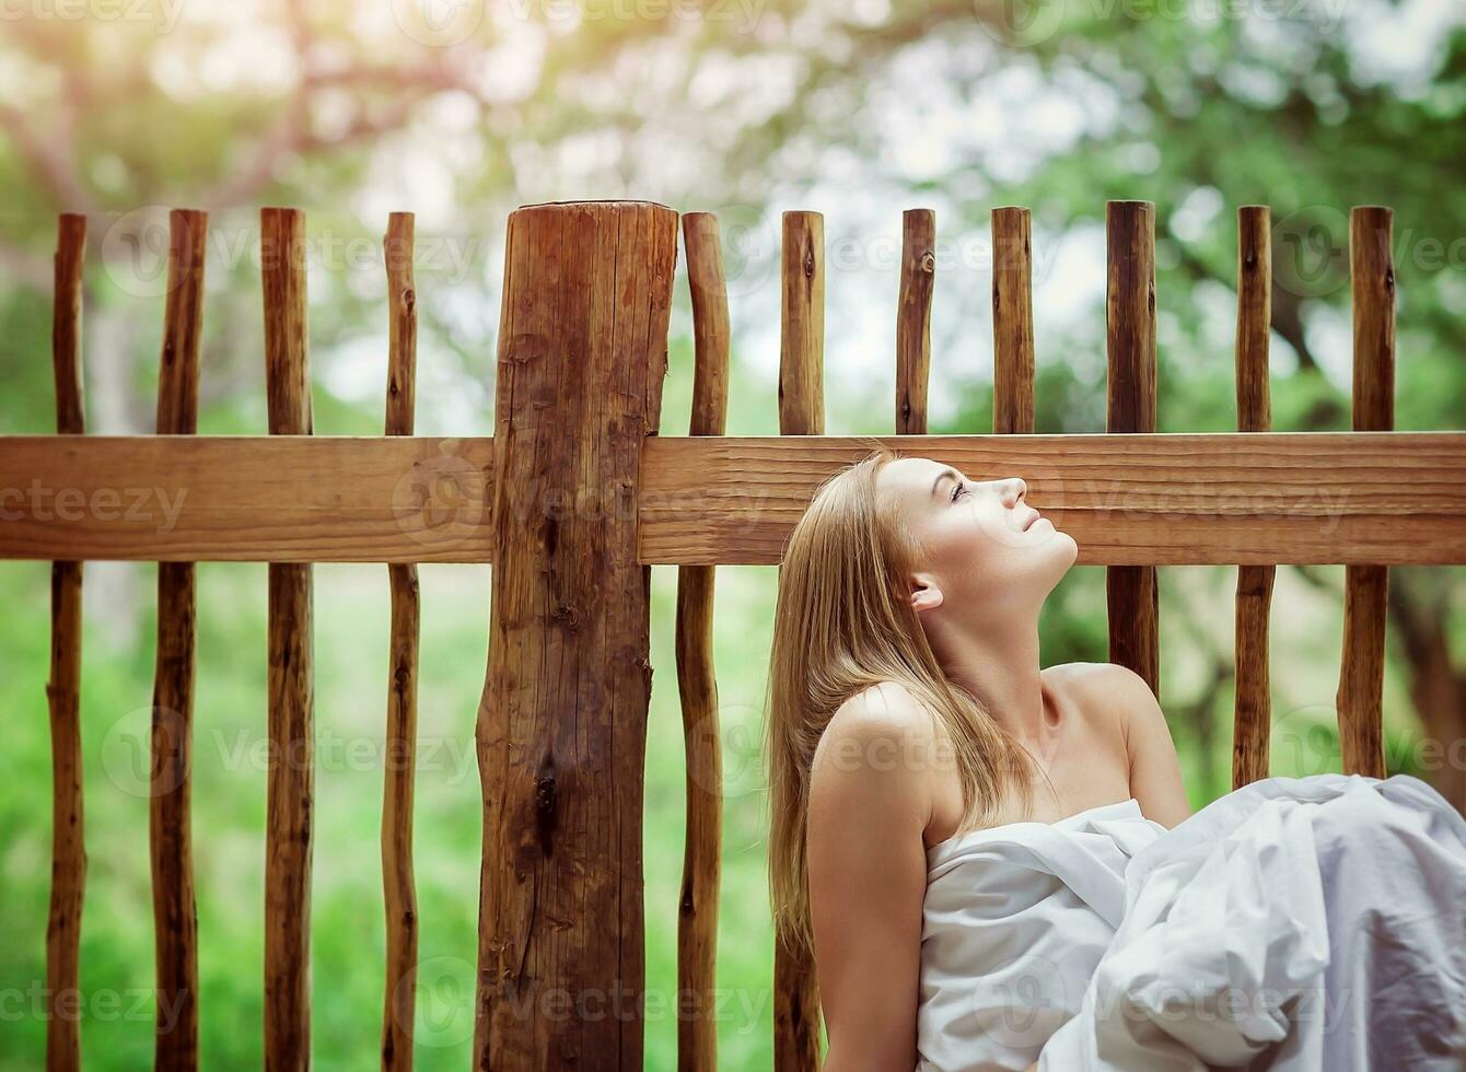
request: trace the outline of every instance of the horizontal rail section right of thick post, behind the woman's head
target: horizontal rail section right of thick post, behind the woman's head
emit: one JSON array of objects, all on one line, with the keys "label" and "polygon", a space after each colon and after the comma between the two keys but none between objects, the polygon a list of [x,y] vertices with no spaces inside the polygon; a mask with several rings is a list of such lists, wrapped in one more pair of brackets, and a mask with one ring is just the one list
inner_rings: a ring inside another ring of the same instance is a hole
[{"label": "horizontal rail section right of thick post, behind the woman's head", "polygon": [[1022,474],[1086,565],[1466,560],[1466,433],[1397,431],[663,437],[642,562],[777,563],[819,481],[872,441]]}]

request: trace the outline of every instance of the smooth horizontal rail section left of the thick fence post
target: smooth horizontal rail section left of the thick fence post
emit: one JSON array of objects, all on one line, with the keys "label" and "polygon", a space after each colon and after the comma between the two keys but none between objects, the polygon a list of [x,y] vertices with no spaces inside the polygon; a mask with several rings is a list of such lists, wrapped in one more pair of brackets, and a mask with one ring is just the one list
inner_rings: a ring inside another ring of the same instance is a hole
[{"label": "smooth horizontal rail section left of the thick fence post", "polygon": [[0,557],[488,562],[488,437],[0,437]]}]

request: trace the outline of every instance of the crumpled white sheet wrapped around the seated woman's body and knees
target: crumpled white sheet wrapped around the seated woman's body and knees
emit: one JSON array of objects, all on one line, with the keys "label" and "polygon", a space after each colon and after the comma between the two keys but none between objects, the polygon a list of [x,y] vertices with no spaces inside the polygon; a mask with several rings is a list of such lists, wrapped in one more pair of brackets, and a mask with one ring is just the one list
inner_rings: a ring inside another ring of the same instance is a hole
[{"label": "crumpled white sheet wrapped around the seated woman's body and knees", "polygon": [[1466,1068],[1466,820],[1396,774],[928,851],[919,1072]]}]

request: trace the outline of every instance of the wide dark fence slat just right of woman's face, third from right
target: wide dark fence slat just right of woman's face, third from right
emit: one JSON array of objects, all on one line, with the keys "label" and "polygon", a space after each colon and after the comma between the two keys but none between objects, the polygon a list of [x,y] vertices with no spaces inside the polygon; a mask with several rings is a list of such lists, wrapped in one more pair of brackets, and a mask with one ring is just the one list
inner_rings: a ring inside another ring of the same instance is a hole
[{"label": "wide dark fence slat just right of woman's face, third from right", "polygon": [[[1105,431],[1155,431],[1155,205],[1105,202]],[[1123,504],[1121,504],[1123,506]],[[1155,566],[1107,566],[1110,661],[1161,694]]]}]

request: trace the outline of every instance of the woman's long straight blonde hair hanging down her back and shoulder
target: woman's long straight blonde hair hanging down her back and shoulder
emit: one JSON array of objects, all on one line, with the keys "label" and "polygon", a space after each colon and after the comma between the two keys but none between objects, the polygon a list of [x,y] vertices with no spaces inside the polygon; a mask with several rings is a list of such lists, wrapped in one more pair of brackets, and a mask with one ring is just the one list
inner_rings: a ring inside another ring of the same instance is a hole
[{"label": "woman's long straight blonde hair hanging down her back and shoulder", "polygon": [[846,700],[881,682],[903,685],[951,742],[962,783],[959,830],[988,824],[1010,785],[1028,808],[1028,751],[970,692],[950,682],[897,595],[922,548],[877,497],[877,474],[902,452],[877,441],[825,480],[784,544],[768,673],[768,884],[778,940],[812,956],[805,867],[809,771],[819,735]]}]

